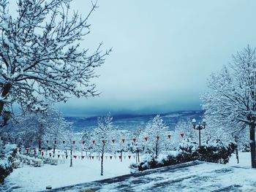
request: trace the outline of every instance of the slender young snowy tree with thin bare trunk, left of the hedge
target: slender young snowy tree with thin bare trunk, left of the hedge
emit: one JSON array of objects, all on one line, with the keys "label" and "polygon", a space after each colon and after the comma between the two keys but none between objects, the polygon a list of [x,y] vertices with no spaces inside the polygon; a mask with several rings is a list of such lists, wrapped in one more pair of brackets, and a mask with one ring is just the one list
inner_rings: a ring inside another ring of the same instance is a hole
[{"label": "slender young snowy tree with thin bare trunk, left of the hedge", "polygon": [[93,139],[94,139],[94,150],[100,153],[101,158],[101,169],[100,175],[103,175],[103,160],[104,154],[110,153],[112,151],[113,145],[110,140],[113,139],[113,118],[110,113],[105,117],[98,118],[98,126],[94,129]]}]

